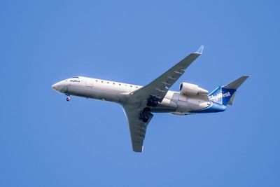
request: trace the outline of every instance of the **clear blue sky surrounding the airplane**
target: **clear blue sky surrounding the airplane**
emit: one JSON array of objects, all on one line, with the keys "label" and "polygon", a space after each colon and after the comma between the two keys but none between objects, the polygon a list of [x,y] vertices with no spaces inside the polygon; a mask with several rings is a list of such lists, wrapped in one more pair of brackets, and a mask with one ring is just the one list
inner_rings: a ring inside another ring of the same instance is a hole
[{"label": "clear blue sky surrounding the airplane", "polygon": [[[1,1],[0,186],[280,186],[279,1]],[[182,81],[243,74],[224,113],[158,114],[134,153],[117,104],[50,85],[145,85],[204,45]]]}]

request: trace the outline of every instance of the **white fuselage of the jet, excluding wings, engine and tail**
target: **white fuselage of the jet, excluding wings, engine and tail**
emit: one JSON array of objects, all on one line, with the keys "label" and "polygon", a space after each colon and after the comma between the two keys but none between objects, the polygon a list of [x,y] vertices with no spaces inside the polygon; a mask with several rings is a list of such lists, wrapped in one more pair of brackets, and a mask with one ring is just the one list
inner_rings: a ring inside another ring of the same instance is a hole
[{"label": "white fuselage of the jet, excluding wings, engine and tail", "polygon": [[[75,95],[92,99],[101,99],[118,104],[127,104],[127,98],[141,88],[141,85],[106,81],[97,78],[77,76],[59,81],[52,88],[66,95]],[[160,104],[152,112],[168,112],[176,115],[188,114],[204,109],[211,104],[207,95],[187,96],[180,92],[168,91]]]}]

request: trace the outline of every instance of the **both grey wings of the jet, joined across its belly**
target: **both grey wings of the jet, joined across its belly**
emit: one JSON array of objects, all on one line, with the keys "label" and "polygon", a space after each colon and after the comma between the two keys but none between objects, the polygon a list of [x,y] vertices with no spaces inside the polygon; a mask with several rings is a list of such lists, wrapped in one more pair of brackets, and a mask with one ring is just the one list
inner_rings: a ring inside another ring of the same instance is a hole
[{"label": "both grey wings of the jet, joined across its belly", "polygon": [[[150,108],[146,106],[156,106],[158,102],[162,102],[169,88],[182,76],[185,69],[202,54],[202,50],[203,46],[156,78],[155,81],[130,93],[127,102],[123,104],[123,109],[130,126],[133,151],[143,151],[146,129],[151,118],[153,118],[153,114],[149,111]],[[148,103],[145,101],[148,101]]]}]

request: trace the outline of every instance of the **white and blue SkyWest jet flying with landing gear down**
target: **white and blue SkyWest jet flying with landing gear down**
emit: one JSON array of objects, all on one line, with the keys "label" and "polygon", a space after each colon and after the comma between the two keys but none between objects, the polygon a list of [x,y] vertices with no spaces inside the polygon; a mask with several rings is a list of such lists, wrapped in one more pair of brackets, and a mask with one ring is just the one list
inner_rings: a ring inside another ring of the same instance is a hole
[{"label": "white and blue SkyWest jet flying with landing gear down", "polygon": [[227,85],[218,86],[210,94],[198,85],[185,82],[180,84],[179,92],[169,90],[190,64],[202,55],[203,48],[204,46],[200,46],[195,53],[190,53],[145,86],[74,76],[55,83],[52,88],[65,94],[68,102],[73,95],[115,102],[123,106],[130,127],[132,149],[141,153],[153,113],[184,116],[225,111],[228,105],[233,104],[237,88],[249,77],[241,76]]}]

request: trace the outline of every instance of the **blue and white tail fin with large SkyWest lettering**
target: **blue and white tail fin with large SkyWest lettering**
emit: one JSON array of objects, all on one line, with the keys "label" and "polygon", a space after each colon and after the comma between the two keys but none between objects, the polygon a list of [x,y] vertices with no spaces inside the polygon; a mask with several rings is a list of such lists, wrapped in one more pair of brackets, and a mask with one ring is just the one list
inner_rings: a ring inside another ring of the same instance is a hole
[{"label": "blue and white tail fin with large SkyWest lettering", "polygon": [[235,99],[236,90],[248,77],[249,76],[241,76],[228,85],[219,86],[208,95],[209,100],[218,104],[232,105],[233,100]]}]

